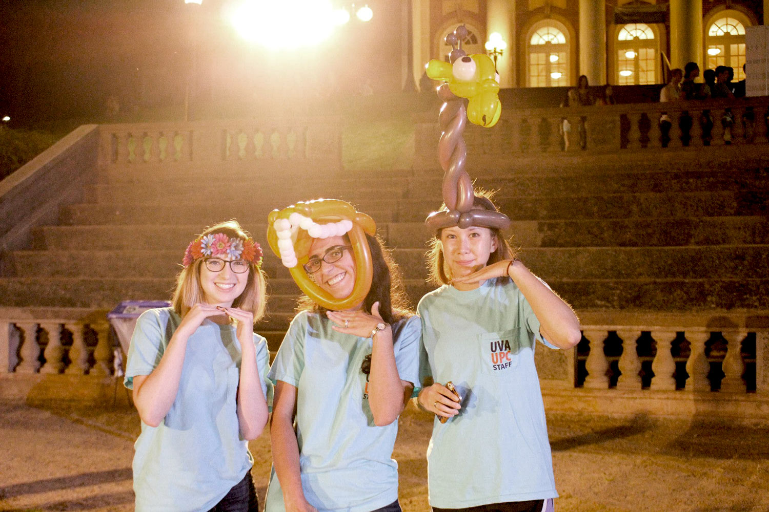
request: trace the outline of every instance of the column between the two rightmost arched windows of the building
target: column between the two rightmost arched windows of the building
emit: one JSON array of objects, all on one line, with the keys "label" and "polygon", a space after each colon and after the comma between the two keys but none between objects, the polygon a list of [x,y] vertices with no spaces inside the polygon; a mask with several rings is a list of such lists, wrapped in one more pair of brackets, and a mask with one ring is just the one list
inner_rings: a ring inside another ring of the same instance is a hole
[{"label": "column between the two rightmost arched windows of the building", "polygon": [[702,0],[671,0],[671,65],[702,61]]}]

